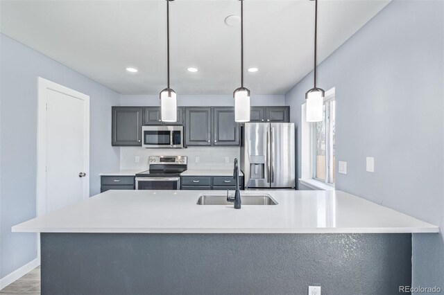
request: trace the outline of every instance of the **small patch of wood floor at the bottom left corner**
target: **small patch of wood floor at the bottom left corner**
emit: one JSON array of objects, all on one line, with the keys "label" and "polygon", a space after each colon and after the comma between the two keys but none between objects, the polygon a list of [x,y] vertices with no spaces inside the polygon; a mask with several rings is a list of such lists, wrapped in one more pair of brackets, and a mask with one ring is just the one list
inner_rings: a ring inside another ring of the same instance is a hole
[{"label": "small patch of wood floor at the bottom left corner", "polygon": [[0,295],[6,294],[40,295],[40,267],[29,271],[22,278],[0,290]]}]

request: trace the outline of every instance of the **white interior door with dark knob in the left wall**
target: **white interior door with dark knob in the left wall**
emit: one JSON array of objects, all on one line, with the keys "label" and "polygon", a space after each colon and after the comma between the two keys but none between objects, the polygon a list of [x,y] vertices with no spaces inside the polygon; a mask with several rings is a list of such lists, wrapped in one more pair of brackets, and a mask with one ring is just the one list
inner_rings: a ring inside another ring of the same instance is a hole
[{"label": "white interior door with dark knob in the left wall", "polygon": [[37,215],[89,196],[89,96],[39,78]]}]

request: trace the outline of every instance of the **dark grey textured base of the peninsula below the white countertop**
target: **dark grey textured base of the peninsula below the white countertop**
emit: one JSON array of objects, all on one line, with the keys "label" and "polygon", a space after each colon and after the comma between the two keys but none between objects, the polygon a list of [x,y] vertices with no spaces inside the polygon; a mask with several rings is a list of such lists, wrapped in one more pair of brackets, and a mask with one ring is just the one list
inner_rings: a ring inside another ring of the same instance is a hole
[{"label": "dark grey textured base of the peninsula below the white countertop", "polygon": [[42,294],[399,294],[409,233],[42,233]]}]

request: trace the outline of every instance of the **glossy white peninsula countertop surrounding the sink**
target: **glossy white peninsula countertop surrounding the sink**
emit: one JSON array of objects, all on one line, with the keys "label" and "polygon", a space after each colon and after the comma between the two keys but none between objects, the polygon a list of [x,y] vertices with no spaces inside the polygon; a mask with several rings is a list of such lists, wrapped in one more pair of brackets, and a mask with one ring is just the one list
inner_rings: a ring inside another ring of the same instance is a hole
[{"label": "glossy white peninsula countertop surrounding the sink", "polygon": [[341,191],[261,190],[279,204],[196,205],[199,190],[108,190],[12,227],[56,233],[438,233],[438,226]]}]

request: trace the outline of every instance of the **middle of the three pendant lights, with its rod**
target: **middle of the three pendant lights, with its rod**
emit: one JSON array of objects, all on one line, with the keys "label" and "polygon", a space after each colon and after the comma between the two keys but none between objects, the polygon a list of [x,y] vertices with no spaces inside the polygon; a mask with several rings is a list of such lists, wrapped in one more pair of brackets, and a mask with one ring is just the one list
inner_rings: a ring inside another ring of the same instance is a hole
[{"label": "middle of the three pendant lights, with its rod", "polygon": [[234,120],[248,122],[250,120],[250,90],[244,87],[244,0],[241,1],[241,87],[233,92]]}]

